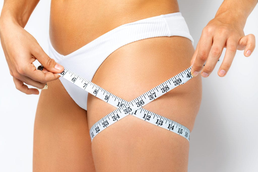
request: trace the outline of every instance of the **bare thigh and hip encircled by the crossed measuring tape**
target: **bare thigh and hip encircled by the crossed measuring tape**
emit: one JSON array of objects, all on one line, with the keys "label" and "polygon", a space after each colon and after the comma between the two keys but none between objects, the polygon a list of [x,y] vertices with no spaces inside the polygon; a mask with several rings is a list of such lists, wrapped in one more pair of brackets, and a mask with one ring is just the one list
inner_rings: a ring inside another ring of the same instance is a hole
[{"label": "bare thigh and hip encircled by the crossed measuring tape", "polygon": [[[193,52],[191,41],[185,37],[139,40],[113,52],[96,71],[92,82],[131,101],[190,67]],[[199,75],[143,108],[191,131],[200,102]],[[89,94],[89,129],[115,109]],[[104,129],[92,140],[96,171],[187,171],[188,152],[186,138],[131,115]]]}]

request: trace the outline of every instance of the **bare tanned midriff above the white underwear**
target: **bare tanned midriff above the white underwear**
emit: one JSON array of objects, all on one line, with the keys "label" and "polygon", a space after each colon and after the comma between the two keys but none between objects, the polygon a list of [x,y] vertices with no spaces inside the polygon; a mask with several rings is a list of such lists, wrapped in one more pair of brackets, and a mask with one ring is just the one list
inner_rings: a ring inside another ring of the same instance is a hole
[{"label": "bare tanned midriff above the white underwear", "polygon": [[179,12],[176,0],[52,0],[50,40],[68,55],[122,24],[174,12]]}]

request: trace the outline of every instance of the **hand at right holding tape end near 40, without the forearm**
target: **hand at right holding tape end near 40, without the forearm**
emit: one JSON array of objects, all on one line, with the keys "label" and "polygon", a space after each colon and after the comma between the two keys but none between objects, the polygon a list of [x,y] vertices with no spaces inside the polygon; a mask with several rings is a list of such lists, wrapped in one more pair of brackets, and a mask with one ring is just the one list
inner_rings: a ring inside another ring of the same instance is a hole
[{"label": "hand at right holding tape end near 40, without the forearm", "polygon": [[[254,35],[245,36],[243,24],[238,24],[235,20],[227,21],[226,19],[226,17],[215,17],[203,29],[191,60],[191,74],[193,76],[201,73],[203,77],[208,77],[215,68],[224,47],[227,49],[218,70],[220,77],[225,76],[228,72],[236,50],[245,50],[244,55],[246,57],[250,56],[254,51]],[[204,63],[205,66],[203,66]]]}]

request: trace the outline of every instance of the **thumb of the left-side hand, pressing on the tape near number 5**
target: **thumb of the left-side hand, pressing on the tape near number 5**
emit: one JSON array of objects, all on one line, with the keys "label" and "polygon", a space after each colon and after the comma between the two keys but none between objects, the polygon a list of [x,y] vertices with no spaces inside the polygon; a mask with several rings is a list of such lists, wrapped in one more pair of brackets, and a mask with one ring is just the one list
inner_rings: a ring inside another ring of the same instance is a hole
[{"label": "thumb of the left-side hand, pressing on the tape near number 5", "polygon": [[[39,46],[40,47],[40,46]],[[42,47],[38,48],[38,50],[33,51],[33,56],[42,64],[44,68],[53,73],[61,73],[64,70],[64,67],[54,59],[51,59],[42,49]]]}]

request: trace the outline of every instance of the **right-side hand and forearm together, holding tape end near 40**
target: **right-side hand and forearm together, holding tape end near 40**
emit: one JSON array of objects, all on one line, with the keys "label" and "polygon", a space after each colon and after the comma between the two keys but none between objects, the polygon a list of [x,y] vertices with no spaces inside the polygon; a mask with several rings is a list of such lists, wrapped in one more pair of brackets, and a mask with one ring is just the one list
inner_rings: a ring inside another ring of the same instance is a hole
[{"label": "right-side hand and forearm together, holding tape end near 40", "polygon": [[201,73],[203,77],[208,77],[215,68],[224,47],[227,49],[218,70],[220,77],[227,74],[237,50],[245,50],[246,57],[252,54],[255,48],[255,37],[253,34],[245,36],[243,29],[248,15],[257,2],[257,0],[223,1],[215,18],[209,21],[202,31],[191,60],[193,76]]}]

